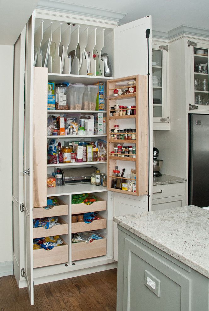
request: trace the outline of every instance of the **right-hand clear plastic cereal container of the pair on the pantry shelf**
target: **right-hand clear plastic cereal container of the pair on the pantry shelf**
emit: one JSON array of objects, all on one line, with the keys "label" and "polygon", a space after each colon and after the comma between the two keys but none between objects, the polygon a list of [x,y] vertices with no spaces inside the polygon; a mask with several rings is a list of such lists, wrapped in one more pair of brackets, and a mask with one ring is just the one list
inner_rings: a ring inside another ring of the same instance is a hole
[{"label": "right-hand clear plastic cereal container of the pair on the pantry shelf", "polygon": [[98,85],[86,85],[83,94],[82,110],[96,110]]}]

